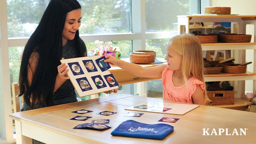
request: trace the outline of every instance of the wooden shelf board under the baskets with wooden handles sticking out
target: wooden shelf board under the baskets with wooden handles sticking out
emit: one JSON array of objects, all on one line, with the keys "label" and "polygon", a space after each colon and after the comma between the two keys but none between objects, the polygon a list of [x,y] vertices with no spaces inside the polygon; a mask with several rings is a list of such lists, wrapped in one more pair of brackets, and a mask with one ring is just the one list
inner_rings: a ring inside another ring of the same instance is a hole
[{"label": "wooden shelf board under the baskets with wooden handles sticking out", "polygon": [[220,74],[204,75],[204,77],[205,77],[205,82],[256,80],[256,74],[248,71],[246,73],[220,73]]}]

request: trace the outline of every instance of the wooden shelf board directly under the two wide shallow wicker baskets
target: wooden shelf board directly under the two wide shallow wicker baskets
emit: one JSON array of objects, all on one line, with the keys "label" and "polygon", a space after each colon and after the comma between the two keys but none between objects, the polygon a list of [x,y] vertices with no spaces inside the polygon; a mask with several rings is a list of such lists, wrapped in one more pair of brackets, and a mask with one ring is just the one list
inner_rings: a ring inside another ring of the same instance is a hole
[{"label": "wooden shelf board directly under the two wide shallow wicker baskets", "polygon": [[202,50],[256,50],[256,42],[201,44]]}]

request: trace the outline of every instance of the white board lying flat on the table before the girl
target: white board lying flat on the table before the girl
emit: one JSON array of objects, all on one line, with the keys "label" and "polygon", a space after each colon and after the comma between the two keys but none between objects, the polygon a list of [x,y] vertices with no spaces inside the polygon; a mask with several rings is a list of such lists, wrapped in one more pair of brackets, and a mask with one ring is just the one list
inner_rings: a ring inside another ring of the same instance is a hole
[{"label": "white board lying flat on the table before the girl", "polygon": [[129,108],[125,108],[125,110],[184,115],[197,107],[199,107],[199,105],[169,102],[142,102]]}]

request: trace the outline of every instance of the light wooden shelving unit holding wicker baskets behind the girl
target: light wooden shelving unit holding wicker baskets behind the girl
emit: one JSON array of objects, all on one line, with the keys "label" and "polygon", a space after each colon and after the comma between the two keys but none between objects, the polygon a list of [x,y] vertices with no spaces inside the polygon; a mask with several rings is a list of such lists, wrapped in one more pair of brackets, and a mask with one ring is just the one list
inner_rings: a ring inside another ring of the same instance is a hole
[{"label": "light wooden shelving unit holding wicker baskets behind the girl", "polygon": [[[178,32],[179,34],[189,33],[193,26],[189,25],[190,22],[231,22],[231,33],[237,34],[256,34],[254,31],[247,31],[246,24],[256,25],[255,15],[182,15],[178,17]],[[246,72],[243,74],[228,74],[220,73],[216,75],[205,75],[205,81],[238,81],[235,83],[235,104],[234,105],[220,105],[217,107],[232,108],[244,110],[248,105],[248,100],[245,96],[245,81],[253,80],[253,92],[256,92],[256,42],[254,39],[250,43],[214,43],[214,44],[201,44],[202,50],[231,50],[231,55],[234,57],[235,63],[245,62],[245,50],[254,50],[253,72]]]}]

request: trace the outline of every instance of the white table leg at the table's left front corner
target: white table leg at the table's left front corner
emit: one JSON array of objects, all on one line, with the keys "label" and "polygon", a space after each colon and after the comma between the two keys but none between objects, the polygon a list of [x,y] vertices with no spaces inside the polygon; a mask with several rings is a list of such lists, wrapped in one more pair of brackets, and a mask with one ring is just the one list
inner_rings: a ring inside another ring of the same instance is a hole
[{"label": "white table leg at the table's left front corner", "polygon": [[16,130],[16,143],[17,144],[32,144],[32,139],[22,135],[21,123],[15,120],[15,130]]}]

